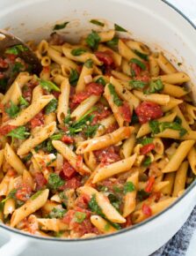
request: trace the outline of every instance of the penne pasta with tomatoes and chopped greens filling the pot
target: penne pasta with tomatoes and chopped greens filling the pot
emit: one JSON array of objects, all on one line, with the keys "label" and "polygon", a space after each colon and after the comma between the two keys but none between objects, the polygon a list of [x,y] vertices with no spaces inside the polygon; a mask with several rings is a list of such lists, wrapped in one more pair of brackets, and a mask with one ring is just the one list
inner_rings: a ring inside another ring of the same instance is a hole
[{"label": "penne pasta with tomatoes and chopped greens filling the pot", "polygon": [[94,237],[142,222],[185,192],[196,174],[187,74],[115,30],[77,45],[58,34],[28,44],[40,77],[26,72],[22,46],[0,58],[1,71],[18,68],[0,97],[2,222],[33,235]]}]

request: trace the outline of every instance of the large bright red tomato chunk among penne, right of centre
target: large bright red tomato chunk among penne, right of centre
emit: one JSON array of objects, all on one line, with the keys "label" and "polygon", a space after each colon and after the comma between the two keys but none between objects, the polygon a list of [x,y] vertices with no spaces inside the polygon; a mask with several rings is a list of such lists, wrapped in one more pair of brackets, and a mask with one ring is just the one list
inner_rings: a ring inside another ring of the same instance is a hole
[{"label": "large bright red tomato chunk among penne, right of centre", "polygon": [[155,102],[142,102],[135,112],[141,124],[163,116],[163,110]]}]

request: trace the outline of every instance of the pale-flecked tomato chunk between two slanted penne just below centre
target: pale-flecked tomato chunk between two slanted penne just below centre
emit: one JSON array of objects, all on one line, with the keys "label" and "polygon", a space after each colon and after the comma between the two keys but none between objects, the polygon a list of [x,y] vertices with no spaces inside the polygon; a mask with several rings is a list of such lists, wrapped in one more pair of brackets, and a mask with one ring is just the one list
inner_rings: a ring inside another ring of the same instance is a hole
[{"label": "pale-flecked tomato chunk between two slanted penne just below centre", "polygon": [[113,146],[97,150],[94,153],[97,161],[100,162],[102,166],[120,161],[120,155],[115,152],[115,148]]}]

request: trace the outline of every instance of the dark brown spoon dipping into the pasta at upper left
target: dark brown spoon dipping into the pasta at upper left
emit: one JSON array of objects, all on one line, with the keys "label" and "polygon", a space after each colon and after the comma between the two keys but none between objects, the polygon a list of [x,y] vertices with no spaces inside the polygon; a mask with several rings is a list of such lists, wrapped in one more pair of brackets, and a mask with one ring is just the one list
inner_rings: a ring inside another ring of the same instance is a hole
[{"label": "dark brown spoon dipping into the pasta at upper left", "polygon": [[[22,45],[25,48],[25,51],[19,52],[18,56],[21,57],[26,64],[31,65],[32,72],[34,74],[39,75],[41,72],[41,64],[38,57],[35,56],[35,54],[33,53],[33,50],[30,49],[25,44],[25,42],[19,39],[18,37],[14,36],[11,33],[8,33],[3,29],[0,29],[0,56],[4,56],[4,52],[6,49],[16,45]],[[12,81],[13,81],[13,78],[8,80],[6,89],[8,89],[11,86]],[[1,88],[0,88],[0,91],[1,91]]]}]

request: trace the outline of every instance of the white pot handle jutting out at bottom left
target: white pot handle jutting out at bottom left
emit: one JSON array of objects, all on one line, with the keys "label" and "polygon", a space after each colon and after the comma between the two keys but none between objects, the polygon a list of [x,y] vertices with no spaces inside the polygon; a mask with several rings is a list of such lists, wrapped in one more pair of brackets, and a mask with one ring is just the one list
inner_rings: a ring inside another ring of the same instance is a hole
[{"label": "white pot handle jutting out at bottom left", "polygon": [[13,236],[5,245],[0,247],[0,255],[18,256],[19,253],[25,251],[28,244],[29,242],[26,238]]}]

